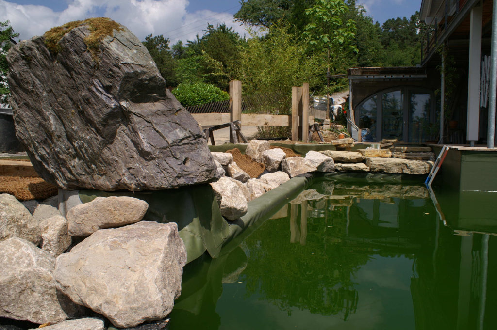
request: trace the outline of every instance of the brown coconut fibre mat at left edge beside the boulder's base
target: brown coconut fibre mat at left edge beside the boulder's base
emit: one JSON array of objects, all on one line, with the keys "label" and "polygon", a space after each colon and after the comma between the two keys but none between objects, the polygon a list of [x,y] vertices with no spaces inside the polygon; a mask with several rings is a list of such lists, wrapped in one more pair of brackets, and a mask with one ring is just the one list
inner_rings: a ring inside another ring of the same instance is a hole
[{"label": "brown coconut fibre mat at left edge beside the boulder's base", "polygon": [[0,194],[12,195],[17,200],[46,199],[57,192],[57,187],[42,178],[0,177]]}]

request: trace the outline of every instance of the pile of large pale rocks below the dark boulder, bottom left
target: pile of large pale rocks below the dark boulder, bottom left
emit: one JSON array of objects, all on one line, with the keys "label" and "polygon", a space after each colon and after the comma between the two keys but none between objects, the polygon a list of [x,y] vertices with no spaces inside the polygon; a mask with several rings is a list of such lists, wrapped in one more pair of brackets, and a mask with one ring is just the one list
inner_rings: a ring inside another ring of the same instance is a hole
[{"label": "pile of large pale rocks below the dark boulder, bottom left", "polygon": [[[104,329],[98,319],[63,322],[86,308],[120,328],[164,319],[181,292],[186,249],[175,223],[140,221],[147,208],[137,198],[95,198],[66,218],[52,198],[32,216],[0,195],[0,317],[54,330]],[[83,241],[68,252],[74,236]]]}]

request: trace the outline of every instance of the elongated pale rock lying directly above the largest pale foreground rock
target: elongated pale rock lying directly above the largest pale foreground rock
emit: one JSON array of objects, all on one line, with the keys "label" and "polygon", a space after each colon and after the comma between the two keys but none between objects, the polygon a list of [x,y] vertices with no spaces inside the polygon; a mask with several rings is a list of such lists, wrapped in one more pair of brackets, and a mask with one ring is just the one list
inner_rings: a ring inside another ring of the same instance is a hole
[{"label": "elongated pale rock lying directly above the largest pale foreground rock", "polygon": [[127,197],[97,197],[69,210],[69,234],[88,236],[104,228],[115,228],[140,221],[149,204],[146,201]]}]

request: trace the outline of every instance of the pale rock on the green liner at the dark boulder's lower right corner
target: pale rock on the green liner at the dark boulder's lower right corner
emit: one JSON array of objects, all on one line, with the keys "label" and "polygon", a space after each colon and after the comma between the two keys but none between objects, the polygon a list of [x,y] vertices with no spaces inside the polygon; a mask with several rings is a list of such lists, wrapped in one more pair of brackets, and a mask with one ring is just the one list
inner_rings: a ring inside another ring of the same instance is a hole
[{"label": "pale rock on the green liner at the dark boulder's lower right corner", "polygon": [[218,182],[211,183],[214,195],[219,203],[221,214],[228,220],[236,220],[247,213],[247,199],[243,192],[227,177],[222,177]]}]

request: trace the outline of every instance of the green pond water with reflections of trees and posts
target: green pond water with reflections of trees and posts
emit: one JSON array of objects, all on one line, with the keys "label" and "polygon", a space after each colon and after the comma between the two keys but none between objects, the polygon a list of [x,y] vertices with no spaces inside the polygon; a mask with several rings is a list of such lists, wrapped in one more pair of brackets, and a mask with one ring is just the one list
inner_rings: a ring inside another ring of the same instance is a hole
[{"label": "green pond water with reflections of trees and posts", "polygon": [[178,329],[496,329],[497,195],[320,181],[183,273]]}]

